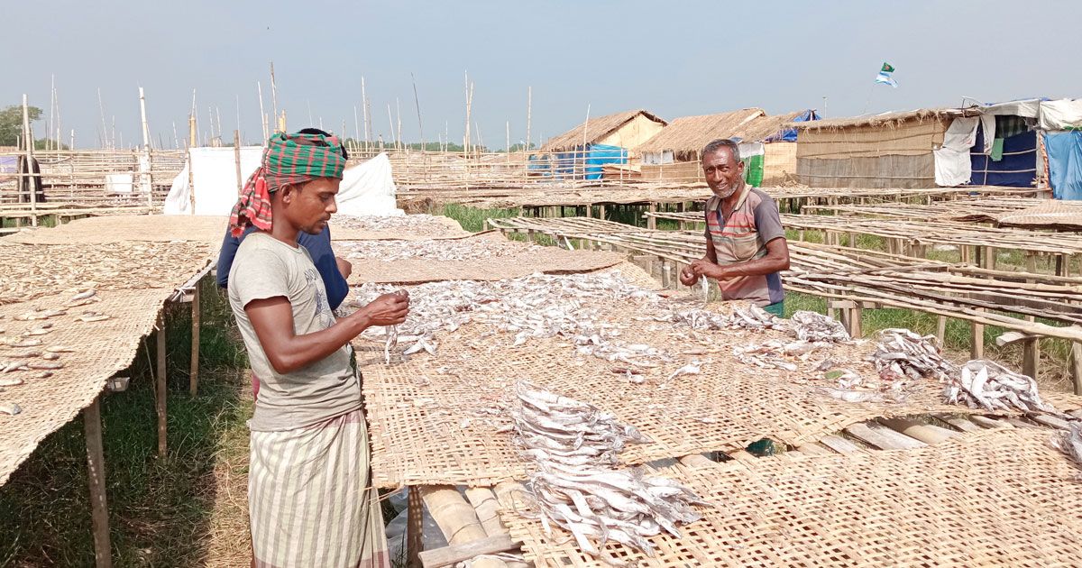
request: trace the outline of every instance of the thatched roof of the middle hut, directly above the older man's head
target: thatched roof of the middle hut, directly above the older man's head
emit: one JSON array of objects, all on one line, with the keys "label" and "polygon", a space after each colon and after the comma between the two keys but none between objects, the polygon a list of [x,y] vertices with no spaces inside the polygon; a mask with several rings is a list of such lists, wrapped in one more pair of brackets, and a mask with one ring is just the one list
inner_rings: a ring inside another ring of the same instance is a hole
[{"label": "thatched roof of the middle hut, directly above the older man's head", "polygon": [[[741,136],[744,140],[751,140],[742,133],[750,129],[753,123],[765,118],[773,117],[767,117],[766,111],[762,108],[741,108],[740,110],[722,113],[720,115],[681,117],[670,122],[668,127],[656,136],[646,141],[645,144],[639,144],[635,148],[635,151],[691,153],[701,150],[707,143],[716,138]],[[795,117],[789,118],[786,122],[793,120],[793,118]],[[754,130],[758,131],[758,129]],[[778,130],[781,130],[780,126],[775,128],[769,134],[755,140],[765,138]]]}]

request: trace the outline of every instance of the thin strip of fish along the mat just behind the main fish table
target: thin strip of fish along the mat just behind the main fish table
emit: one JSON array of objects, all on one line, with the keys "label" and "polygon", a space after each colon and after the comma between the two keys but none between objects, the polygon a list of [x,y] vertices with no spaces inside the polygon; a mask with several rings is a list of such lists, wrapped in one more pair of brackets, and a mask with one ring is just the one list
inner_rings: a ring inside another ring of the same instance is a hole
[{"label": "thin strip of fish along the mat just behind the main fish table", "polygon": [[530,252],[541,247],[513,240],[358,240],[341,241],[335,248],[347,260],[384,262],[423,259],[428,261],[476,261]]}]

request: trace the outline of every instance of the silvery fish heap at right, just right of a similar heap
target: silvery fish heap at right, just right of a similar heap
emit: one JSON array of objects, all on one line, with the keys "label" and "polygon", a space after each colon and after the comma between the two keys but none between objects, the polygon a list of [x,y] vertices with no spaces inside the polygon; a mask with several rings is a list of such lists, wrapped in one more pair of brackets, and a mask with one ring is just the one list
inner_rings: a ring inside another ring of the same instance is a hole
[{"label": "silvery fish heap at right, just right of a similar heap", "polygon": [[986,359],[975,359],[962,367],[959,377],[950,377],[944,388],[949,405],[964,404],[985,410],[1021,410],[1022,412],[1056,412],[1041,400],[1037,381]]}]

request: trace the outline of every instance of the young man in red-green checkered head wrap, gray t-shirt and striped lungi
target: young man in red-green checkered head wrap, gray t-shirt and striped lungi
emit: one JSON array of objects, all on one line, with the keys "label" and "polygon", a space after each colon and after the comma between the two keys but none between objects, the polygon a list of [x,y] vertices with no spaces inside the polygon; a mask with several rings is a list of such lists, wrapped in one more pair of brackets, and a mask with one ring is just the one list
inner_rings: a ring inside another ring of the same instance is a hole
[{"label": "young man in red-green checkered head wrap, gray t-shirt and striped lungi", "polygon": [[261,388],[251,430],[252,563],[267,568],[390,566],[369,471],[360,377],[349,340],[401,323],[409,296],[384,294],[342,319],[298,235],[321,232],[346,155],[338,138],[275,134],[229,219],[241,241],[229,305]]}]

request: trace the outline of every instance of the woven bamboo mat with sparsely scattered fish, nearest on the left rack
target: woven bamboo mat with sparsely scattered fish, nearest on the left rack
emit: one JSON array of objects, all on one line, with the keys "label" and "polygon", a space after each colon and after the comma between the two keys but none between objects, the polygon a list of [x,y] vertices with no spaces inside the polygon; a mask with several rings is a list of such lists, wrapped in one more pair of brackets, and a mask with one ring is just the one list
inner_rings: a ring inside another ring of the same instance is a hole
[{"label": "woven bamboo mat with sparsely scattered fish, nearest on the left rack", "polygon": [[[43,361],[40,357],[21,357],[29,352],[65,345],[72,353],[61,354],[63,369],[48,379],[31,379],[41,371],[14,371],[3,378],[21,378],[25,383],[3,387],[0,402],[15,402],[23,411],[16,415],[0,413],[0,485],[18,467],[37,445],[51,432],[76,418],[80,410],[102,392],[106,380],[126,369],[137,354],[140,339],[154,328],[162,302],[172,288],[98,291],[101,302],[70,308],[68,315],[45,320],[53,331],[40,335],[43,344],[14,348],[0,345],[0,361]],[[42,321],[17,321],[12,318],[32,307],[61,307],[70,294],[39,298],[32,303],[0,306],[0,338],[16,338]],[[83,322],[75,318],[92,309],[110,316],[104,321]]]}]

